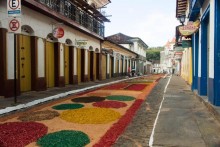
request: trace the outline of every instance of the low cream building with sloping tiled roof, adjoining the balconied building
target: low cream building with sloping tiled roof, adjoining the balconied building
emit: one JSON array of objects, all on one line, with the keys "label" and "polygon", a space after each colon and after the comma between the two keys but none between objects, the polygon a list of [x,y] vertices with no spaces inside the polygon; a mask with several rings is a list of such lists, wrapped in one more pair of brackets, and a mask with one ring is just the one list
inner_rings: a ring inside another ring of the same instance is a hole
[{"label": "low cream building with sloping tiled roof, adjoining the balconied building", "polygon": [[102,43],[102,79],[128,75],[137,57],[134,51],[106,38]]}]

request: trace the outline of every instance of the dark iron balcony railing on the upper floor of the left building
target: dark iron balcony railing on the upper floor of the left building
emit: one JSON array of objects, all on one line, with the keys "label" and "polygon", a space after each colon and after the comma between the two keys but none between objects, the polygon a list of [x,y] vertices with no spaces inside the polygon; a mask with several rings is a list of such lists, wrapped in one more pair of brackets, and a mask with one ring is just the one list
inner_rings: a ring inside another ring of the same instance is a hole
[{"label": "dark iron balcony railing on the upper floor of the left building", "polygon": [[69,0],[36,0],[57,13],[77,22],[88,30],[104,37],[104,25],[85,13]]}]

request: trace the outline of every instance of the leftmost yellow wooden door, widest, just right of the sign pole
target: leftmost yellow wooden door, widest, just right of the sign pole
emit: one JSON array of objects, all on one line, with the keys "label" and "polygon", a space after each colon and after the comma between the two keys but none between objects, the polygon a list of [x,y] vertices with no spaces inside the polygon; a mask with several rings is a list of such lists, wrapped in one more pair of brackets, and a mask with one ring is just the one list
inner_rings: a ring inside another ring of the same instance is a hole
[{"label": "leftmost yellow wooden door, widest, just right of the sign pole", "polygon": [[30,36],[19,36],[20,49],[20,91],[31,90],[31,38]]}]

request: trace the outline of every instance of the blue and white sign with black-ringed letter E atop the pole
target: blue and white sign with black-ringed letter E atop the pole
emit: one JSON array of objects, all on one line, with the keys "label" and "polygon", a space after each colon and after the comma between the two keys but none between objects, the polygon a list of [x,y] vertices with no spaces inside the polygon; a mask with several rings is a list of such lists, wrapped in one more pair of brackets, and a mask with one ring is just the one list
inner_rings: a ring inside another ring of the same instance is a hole
[{"label": "blue and white sign with black-ringed letter E atop the pole", "polygon": [[7,0],[7,11],[9,17],[21,15],[21,0]]}]

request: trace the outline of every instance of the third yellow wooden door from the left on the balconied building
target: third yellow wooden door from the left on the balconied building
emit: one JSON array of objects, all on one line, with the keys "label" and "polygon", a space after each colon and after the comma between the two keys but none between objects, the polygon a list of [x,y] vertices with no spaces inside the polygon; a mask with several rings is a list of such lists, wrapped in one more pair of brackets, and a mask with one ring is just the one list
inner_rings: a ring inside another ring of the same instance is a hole
[{"label": "third yellow wooden door from the left on the balconied building", "polygon": [[70,71],[70,60],[69,60],[69,46],[64,47],[64,73],[65,73],[65,84],[69,84],[69,71]]}]

